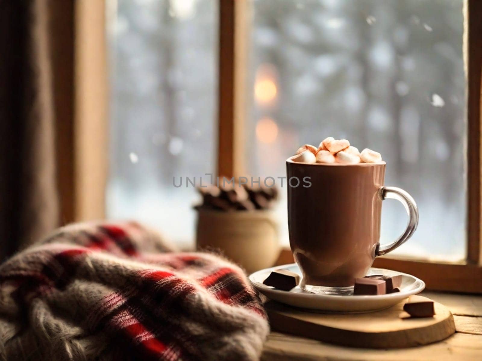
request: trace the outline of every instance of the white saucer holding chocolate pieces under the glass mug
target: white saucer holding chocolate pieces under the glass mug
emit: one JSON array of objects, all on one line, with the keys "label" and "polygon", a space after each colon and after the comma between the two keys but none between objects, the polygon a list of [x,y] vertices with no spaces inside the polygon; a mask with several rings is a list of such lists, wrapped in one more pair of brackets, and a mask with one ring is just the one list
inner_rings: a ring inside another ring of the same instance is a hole
[{"label": "white saucer holding chocolate pieces under the glass mug", "polygon": [[415,295],[425,288],[425,283],[415,276],[407,273],[385,270],[382,268],[371,268],[368,271],[368,275],[383,274],[387,276],[394,276],[401,274],[402,285],[400,287],[400,292],[376,296],[337,296],[309,293],[299,288],[299,286],[296,286],[291,291],[282,291],[280,289],[263,284],[263,281],[268,277],[271,271],[279,269],[286,269],[301,275],[298,265],[296,263],[291,263],[256,271],[249,276],[249,280],[259,292],[268,298],[286,305],[304,309],[317,309],[330,312],[376,311],[396,305],[403,299],[411,295]]}]

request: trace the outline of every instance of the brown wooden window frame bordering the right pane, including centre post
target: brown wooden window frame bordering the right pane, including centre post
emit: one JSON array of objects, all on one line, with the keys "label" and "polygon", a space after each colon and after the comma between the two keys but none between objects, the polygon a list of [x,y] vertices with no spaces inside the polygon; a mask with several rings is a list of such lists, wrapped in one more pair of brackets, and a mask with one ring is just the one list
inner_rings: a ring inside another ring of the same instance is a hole
[{"label": "brown wooden window frame bordering the right pane, including centre post", "polygon": [[[244,168],[243,122],[250,14],[249,0],[219,0],[218,174],[227,177],[243,175]],[[466,260],[442,263],[383,256],[375,259],[374,266],[411,273],[423,279],[428,289],[482,293],[482,1],[465,0],[464,19],[464,60],[468,79],[467,148],[472,150],[468,152]],[[291,262],[291,250],[284,248],[277,264]]]}]

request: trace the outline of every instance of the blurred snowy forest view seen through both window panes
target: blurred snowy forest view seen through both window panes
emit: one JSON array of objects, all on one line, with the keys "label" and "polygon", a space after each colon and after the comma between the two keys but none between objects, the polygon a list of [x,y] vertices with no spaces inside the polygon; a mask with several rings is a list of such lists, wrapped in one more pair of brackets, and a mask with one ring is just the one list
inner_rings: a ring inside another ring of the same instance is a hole
[{"label": "blurred snowy forest view seen through both window panes", "polygon": [[[465,255],[462,0],[254,0],[246,119],[249,175],[285,176],[304,143],[347,138],[387,161],[387,185],[420,210],[396,253]],[[148,221],[192,245],[197,200],[173,176],[215,170],[217,1],[109,2],[109,217]],[[284,196],[286,189],[281,194]],[[286,199],[278,208],[288,244]],[[381,242],[404,229],[386,201]]]}]

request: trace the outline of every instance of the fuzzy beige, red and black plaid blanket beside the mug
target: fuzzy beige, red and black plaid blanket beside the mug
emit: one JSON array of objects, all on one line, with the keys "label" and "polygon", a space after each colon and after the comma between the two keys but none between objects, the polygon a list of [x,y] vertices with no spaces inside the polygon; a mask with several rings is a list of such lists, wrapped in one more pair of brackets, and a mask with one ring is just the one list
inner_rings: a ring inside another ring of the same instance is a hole
[{"label": "fuzzy beige, red and black plaid blanket beside the mug", "polygon": [[257,360],[243,271],[137,223],[61,228],[0,266],[0,360]]}]

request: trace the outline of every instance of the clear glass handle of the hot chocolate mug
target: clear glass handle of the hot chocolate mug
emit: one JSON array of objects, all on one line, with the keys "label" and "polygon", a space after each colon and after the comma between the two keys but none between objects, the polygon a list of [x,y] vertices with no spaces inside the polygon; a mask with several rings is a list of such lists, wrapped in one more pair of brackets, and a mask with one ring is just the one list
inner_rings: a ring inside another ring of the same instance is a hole
[{"label": "clear glass handle of the hot chocolate mug", "polygon": [[383,256],[388,252],[393,251],[395,248],[403,245],[412,236],[412,234],[414,234],[418,226],[418,208],[414,198],[410,194],[397,187],[381,187],[379,192],[382,200],[389,198],[402,202],[402,205],[405,207],[405,210],[408,214],[408,224],[405,232],[403,232],[399,239],[397,239],[395,242],[389,243],[388,245],[380,245],[378,250],[375,252],[375,256]]}]

